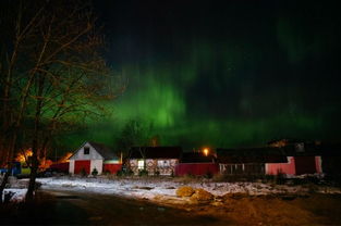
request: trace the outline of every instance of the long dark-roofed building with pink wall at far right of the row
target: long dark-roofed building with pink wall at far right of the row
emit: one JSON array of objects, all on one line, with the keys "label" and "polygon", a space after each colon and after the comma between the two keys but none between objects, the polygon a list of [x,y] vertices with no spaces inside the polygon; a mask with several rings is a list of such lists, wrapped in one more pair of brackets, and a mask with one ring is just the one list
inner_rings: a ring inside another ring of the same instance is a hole
[{"label": "long dark-roofed building with pink wall at far right of the row", "polygon": [[313,143],[217,149],[220,172],[228,174],[302,175],[322,173],[320,151]]}]

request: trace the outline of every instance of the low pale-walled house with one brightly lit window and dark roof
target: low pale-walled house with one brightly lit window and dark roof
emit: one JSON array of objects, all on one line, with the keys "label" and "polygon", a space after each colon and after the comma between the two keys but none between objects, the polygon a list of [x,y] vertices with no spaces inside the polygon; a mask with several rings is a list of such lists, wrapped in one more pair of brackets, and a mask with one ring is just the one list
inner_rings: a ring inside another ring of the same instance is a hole
[{"label": "low pale-walled house with one brightly lit window and dark roof", "polygon": [[127,166],[135,175],[143,170],[149,175],[172,175],[181,154],[181,147],[132,147]]}]

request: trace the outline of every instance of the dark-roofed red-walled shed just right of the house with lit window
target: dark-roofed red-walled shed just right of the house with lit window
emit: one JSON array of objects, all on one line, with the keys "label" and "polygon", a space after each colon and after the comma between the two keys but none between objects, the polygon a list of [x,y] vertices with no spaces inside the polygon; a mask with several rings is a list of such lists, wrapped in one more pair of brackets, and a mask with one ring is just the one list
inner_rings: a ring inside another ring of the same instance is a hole
[{"label": "dark-roofed red-walled shed just right of the house with lit window", "polygon": [[214,154],[203,152],[183,152],[180,163],[175,166],[175,175],[214,175],[219,173],[219,164]]}]

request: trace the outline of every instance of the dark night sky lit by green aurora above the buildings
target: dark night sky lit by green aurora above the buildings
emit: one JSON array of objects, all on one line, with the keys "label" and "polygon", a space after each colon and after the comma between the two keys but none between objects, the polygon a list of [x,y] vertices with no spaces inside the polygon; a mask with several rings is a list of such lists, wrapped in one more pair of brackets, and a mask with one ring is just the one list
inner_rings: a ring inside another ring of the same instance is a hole
[{"label": "dark night sky lit by green aurora above the buildings", "polygon": [[340,3],[95,1],[106,59],[127,89],[110,117],[69,136],[114,143],[132,118],[160,145],[340,141]]}]

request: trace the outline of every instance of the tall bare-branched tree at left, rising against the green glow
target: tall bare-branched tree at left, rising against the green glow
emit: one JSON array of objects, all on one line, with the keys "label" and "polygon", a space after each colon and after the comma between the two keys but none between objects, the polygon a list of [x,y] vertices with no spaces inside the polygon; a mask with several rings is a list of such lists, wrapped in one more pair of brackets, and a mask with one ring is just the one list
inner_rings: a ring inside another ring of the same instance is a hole
[{"label": "tall bare-branched tree at left, rising against the green glow", "polygon": [[[13,5],[12,2],[9,5]],[[17,102],[11,113],[14,120],[7,127],[31,130],[33,156],[26,200],[32,200],[38,160],[50,138],[84,123],[86,117],[106,114],[102,101],[115,98],[120,90],[101,58],[103,37],[96,29],[88,2],[16,3],[11,46],[15,48],[7,47],[15,56],[12,56],[13,62],[4,61],[2,71],[7,78],[1,84],[8,87],[13,102],[14,99]],[[8,105],[12,103],[9,93],[3,92],[1,112],[5,117],[9,117]],[[28,122],[28,126],[24,127],[23,121]],[[15,143],[17,134],[10,137]],[[10,153],[13,155],[15,149]]]}]

